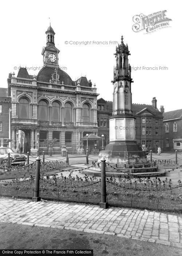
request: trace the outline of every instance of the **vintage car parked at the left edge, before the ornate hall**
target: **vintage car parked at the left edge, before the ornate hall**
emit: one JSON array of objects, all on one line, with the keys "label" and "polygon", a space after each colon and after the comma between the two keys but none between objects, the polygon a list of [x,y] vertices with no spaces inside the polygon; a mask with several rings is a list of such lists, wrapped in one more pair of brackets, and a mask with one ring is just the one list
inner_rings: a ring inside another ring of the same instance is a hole
[{"label": "vintage car parked at the left edge, before the ornate hall", "polygon": [[8,153],[10,153],[11,165],[25,165],[27,156],[25,154],[19,154],[8,147],[0,147],[0,164],[6,162],[8,159]]}]

